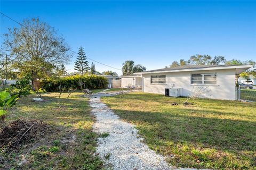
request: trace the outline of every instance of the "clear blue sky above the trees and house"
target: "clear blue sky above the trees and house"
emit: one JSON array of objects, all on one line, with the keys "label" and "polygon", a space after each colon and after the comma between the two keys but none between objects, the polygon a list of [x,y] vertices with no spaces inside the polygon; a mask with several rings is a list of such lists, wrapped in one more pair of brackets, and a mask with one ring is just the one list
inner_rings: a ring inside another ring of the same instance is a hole
[{"label": "clear blue sky above the trees and house", "polygon": [[[73,50],[83,46],[88,57],[119,69],[126,60],[160,69],[195,54],[256,60],[255,1],[1,0],[0,11],[17,21],[39,17],[58,29]],[[0,20],[1,35],[18,26],[2,15]]]}]

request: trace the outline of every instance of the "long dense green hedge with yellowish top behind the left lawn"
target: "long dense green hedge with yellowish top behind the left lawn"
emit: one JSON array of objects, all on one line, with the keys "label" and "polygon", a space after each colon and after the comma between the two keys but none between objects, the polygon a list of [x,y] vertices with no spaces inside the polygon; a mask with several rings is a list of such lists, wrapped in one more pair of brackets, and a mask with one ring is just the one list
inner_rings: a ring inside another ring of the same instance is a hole
[{"label": "long dense green hedge with yellowish top behind the left lawn", "polygon": [[77,88],[81,89],[78,85],[79,80],[84,82],[83,88],[88,89],[103,89],[108,85],[108,79],[101,75],[74,75],[70,77],[63,77],[58,79],[48,79],[41,81],[41,88],[46,91],[59,91],[59,86],[63,88]]}]

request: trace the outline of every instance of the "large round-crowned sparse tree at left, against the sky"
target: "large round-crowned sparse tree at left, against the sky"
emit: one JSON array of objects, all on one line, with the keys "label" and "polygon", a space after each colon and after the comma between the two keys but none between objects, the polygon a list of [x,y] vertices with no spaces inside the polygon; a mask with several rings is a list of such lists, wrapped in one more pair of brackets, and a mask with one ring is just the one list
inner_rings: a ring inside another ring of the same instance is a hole
[{"label": "large round-crowned sparse tree at left, against the sky", "polygon": [[5,49],[15,58],[13,67],[20,77],[29,75],[33,81],[47,78],[55,65],[69,61],[70,47],[53,27],[38,18],[24,20],[22,25],[4,35]]}]

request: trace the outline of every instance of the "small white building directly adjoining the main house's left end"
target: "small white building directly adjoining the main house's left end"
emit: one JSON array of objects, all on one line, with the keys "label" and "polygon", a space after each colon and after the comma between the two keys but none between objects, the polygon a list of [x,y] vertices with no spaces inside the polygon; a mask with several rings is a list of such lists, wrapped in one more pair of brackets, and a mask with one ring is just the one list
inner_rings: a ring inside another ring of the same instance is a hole
[{"label": "small white building directly adjoining the main house's left end", "polygon": [[121,76],[121,87],[123,88],[139,88],[142,87],[142,77],[137,74]]}]

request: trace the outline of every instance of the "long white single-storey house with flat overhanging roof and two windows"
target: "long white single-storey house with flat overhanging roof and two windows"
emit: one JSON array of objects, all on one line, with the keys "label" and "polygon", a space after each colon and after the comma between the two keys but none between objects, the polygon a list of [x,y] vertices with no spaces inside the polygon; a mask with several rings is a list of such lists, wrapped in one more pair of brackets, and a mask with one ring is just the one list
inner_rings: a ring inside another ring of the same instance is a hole
[{"label": "long white single-storey house with flat overhanging roof and two windows", "polygon": [[[142,77],[142,91],[165,94],[166,89],[180,89],[180,96],[189,96],[193,87],[207,86],[211,94],[202,97],[236,99],[236,75],[252,65],[185,65],[135,73]],[[122,78],[123,79],[123,78]]]}]

